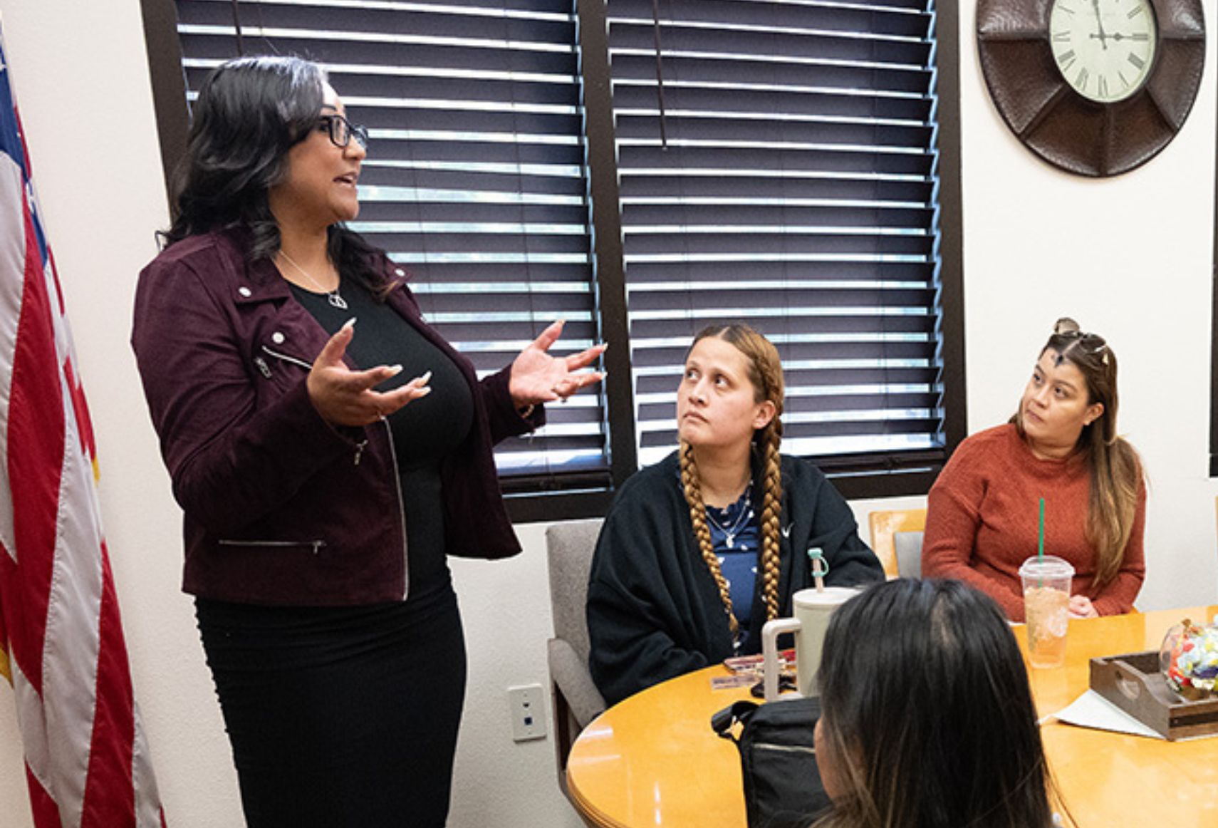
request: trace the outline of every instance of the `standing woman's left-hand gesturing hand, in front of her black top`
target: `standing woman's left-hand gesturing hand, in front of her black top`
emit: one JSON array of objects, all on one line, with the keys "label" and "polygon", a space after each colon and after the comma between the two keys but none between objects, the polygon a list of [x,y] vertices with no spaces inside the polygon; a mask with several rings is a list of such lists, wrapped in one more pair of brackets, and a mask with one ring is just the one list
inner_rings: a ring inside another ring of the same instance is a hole
[{"label": "standing woman's left-hand gesturing hand, in front of her black top", "polygon": [[353,371],[342,362],[347,345],[354,336],[351,319],[322,348],[308,373],[308,396],[313,408],[331,425],[368,425],[389,416],[412,399],[431,393],[428,380],[431,371],[417,376],[392,391],[373,388],[401,373],[401,365],[378,365],[365,371]]}]

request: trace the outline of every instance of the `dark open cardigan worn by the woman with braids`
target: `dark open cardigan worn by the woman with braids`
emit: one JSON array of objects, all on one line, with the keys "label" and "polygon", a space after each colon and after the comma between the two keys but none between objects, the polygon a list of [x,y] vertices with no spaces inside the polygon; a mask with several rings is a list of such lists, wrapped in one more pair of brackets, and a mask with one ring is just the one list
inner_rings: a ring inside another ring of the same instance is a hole
[{"label": "dark open cardigan worn by the woman with braids", "polygon": [[[806,555],[812,547],[825,552],[828,584],[883,580],[850,507],[818,469],[783,455],[782,489],[781,616],[790,615],[792,593],[812,586]],[[760,487],[753,502],[761,502]],[[765,617],[759,577],[745,651],[760,649]],[[676,452],[626,481],[610,507],[592,560],[587,619],[592,678],[609,704],[732,655],[727,615],[694,538]]]}]

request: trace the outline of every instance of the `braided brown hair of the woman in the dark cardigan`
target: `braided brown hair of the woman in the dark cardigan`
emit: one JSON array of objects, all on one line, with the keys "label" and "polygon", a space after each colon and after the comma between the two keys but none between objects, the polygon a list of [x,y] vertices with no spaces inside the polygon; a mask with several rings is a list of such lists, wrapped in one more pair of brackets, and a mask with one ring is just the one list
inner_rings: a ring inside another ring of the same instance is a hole
[{"label": "braided brown hair of the woman in the dark cardigan", "polygon": [[[714,336],[732,345],[744,354],[748,363],[748,377],[753,385],[753,399],[761,403],[770,401],[773,403],[773,416],[761,429],[753,435],[753,442],[761,453],[764,480],[761,500],[761,594],[765,598],[766,620],[778,616],[778,522],[782,511],[782,461],[778,455],[778,444],[782,442],[782,401],[784,386],[782,381],[782,360],[778,358],[778,349],[773,347],[761,334],[748,325],[711,325],[698,331],[689,351],[699,341]],[[686,352],[686,358],[689,353]],[[715,547],[710,539],[710,528],[706,526],[706,504],[702,499],[702,485],[698,479],[698,466],[693,457],[693,446],[681,443],[681,482],[685,486],[686,503],[689,504],[689,520],[693,524],[694,536],[698,538],[698,547],[702,558],[706,561],[710,575],[719,587],[719,597],[727,610],[728,626],[734,636],[739,623],[732,611],[732,598],[728,592],[727,580],[719,565],[715,555]]]}]

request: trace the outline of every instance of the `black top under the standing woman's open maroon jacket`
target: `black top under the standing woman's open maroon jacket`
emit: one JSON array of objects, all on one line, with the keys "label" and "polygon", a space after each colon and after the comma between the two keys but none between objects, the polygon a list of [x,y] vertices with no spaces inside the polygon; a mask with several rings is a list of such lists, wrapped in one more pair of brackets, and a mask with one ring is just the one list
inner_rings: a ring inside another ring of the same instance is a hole
[{"label": "black top under the standing woman's open maroon jacket", "polygon": [[448,583],[440,463],[465,440],[473,425],[469,384],[443,352],[354,280],[343,280],[340,287],[347,308],[335,307],[326,293],[298,285],[291,285],[291,291],[331,335],[356,318],[356,332],[347,346],[347,357],[356,365],[362,369],[402,365],[397,376],[376,386],[379,391],[396,388],[431,371],[428,382],[431,393],[387,418],[402,485],[413,603]]}]

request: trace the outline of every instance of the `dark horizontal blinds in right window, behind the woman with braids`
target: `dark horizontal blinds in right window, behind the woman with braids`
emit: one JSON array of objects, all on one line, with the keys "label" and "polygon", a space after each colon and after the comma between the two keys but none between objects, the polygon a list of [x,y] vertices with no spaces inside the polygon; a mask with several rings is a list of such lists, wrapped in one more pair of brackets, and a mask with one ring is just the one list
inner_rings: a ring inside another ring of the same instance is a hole
[{"label": "dark horizontal blinds in right window, behind the woman with braids", "polygon": [[676,443],[691,336],[732,320],[782,356],[784,451],[942,446],[933,11],[607,13],[639,463]]}]

